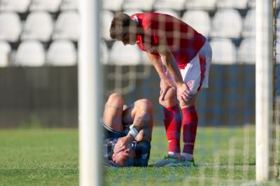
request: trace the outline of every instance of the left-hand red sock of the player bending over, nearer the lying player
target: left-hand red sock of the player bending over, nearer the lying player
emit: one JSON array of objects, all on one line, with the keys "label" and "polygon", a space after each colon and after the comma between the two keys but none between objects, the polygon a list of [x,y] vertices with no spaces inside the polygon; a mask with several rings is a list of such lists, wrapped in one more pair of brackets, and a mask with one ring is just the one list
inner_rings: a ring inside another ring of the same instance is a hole
[{"label": "left-hand red sock of the player bending over, nearer the lying player", "polygon": [[165,129],[168,140],[169,156],[176,156],[180,153],[180,134],[181,134],[181,114],[178,104],[170,108],[164,108],[165,114]]}]

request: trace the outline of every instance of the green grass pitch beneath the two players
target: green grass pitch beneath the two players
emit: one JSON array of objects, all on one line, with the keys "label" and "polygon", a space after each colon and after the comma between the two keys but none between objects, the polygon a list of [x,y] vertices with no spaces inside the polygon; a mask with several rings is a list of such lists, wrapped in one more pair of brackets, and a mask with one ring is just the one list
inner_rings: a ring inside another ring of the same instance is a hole
[{"label": "green grass pitch beneath the two players", "polygon": [[[165,155],[165,130],[155,127],[149,164]],[[255,185],[254,127],[200,127],[195,162],[194,168],[105,169],[104,185]],[[78,185],[78,130],[0,130],[0,185]]]}]

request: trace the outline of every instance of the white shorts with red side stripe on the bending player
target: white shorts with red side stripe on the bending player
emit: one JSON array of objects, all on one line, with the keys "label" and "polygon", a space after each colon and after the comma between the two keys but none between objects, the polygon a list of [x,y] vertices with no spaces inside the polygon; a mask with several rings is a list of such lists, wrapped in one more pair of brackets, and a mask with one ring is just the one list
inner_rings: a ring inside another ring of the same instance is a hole
[{"label": "white shorts with red side stripe on the bending player", "polygon": [[[208,88],[211,60],[211,46],[208,41],[206,41],[200,52],[187,64],[185,69],[180,69],[183,81],[188,85],[192,94],[196,94],[202,88]],[[167,71],[167,77],[174,82],[169,71]]]}]

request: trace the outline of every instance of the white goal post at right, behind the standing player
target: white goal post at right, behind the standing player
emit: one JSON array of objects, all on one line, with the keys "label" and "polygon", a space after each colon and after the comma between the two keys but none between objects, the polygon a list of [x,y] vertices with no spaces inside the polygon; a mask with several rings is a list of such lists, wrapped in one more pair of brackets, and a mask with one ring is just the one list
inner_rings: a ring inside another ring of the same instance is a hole
[{"label": "white goal post at right, behind the standing player", "polygon": [[273,175],[273,7],[272,0],[256,0],[255,41],[255,178]]}]

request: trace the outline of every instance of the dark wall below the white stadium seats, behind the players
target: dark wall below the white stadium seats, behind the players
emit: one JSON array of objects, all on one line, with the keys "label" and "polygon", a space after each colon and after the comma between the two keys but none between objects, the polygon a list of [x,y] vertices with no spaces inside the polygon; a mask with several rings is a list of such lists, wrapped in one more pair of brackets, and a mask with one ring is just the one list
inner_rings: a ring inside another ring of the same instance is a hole
[{"label": "dark wall below the white stadium seats, behind the players", "polygon": [[[104,100],[114,86],[106,75],[115,68],[104,66]],[[129,66],[122,68],[125,71]],[[255,66],[213,64],[209,76],[209,89],[202,90],[197,98],[200,126],[254,124]],[[77,77],[77,66],[0,68],[0,128],[78,127]],[[150,99],[155,125],[162,125],[158,85],[152,68],[151,76],[137,79],[136,88],[124,99],[127,104]]]}]

